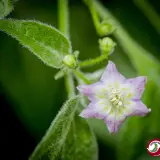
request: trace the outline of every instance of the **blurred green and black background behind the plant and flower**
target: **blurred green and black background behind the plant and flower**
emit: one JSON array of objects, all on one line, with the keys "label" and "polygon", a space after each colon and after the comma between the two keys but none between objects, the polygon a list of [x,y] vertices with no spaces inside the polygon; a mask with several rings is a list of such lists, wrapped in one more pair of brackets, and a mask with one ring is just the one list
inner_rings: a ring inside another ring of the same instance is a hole
[{"label": "blurred green and black background behind the plant and flower", "polygon": [[[152,113],[145,118],[131,118],[125,122],[117,135],[111,136],[103,122],[90,120],[97,134],[100,160],[155,159],[147,153],[146,145],[149,140],[160,138],[160,3],[158,0],[148,1],[157,13],[155,18],[150,12],[150,5],[145,6],[137,1],[108,0],[103,1],[103,4],[113,13],[130,37],[154,58],[144,52],[142,59],[136,60],[135,63],[134,59],[139,57],[135,56],[132,59],[115,37],[118,45],[110,59],[127,77],[147,74],[149,83],[143,100],[152,108]],[[19,0],[8,17],[39,20],[57,27],[57,2]],[[99,37],[91,15],[87,7],[78,0],[70,0],[70,32],[73,50],[80,50],[81,60],[100,54]],[[135,48],[129,46],[127,40],[125,43],[133,52]],[[84,71],[93,72],[105,64],[106,62]],[[148,72],[150,64],[152,72]],[[2,159],[10,159],[10,154],[12,159],[27,159],[64,103],[67,97],[65,86],[63,79],[54,80],[56,72],[56,69],[45,66],[16,40],[0,33],[0,144],[3,146],[0,152],[1,157],[4,157]]]}]

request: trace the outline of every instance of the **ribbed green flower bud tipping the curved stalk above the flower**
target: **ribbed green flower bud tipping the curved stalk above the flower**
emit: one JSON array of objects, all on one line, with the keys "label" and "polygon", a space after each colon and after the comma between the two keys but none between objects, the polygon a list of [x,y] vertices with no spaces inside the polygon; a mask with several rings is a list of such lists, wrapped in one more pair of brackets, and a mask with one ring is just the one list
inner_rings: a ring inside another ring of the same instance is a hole
[{"label": "ribbed green flower bud tipping the curved stalk above the flower", "polygon": [[116,46],[116,43],[109,37],[105,37],[99,40],[99,45],[102,53],[111,54]]}]

